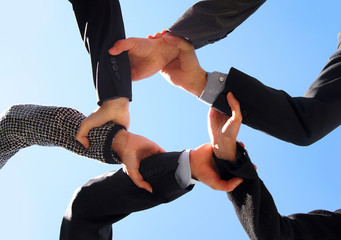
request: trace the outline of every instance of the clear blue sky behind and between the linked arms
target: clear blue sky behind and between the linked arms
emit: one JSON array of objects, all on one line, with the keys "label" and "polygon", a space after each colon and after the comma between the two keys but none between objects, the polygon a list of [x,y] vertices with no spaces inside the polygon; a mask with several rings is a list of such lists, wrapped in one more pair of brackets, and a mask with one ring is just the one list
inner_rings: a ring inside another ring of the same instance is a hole
[{"label": "clear blue sky behind and between the linked arms", "polygon": [[[122,1],[127,36],[167,28],[194,2]],[[339,0],[268,1],[226,39],[198,50],[200,63],[207,71],[234,66],[301,96],[336,49],[340,8]],[[68,1],[3,1],[0,32],[0,112],[16,103],[68,106],[86,115],[96,108],[89,57]],[[159,74],[134,83],[133,98],[131,131],[167,151],[209,141],[208,107]],[[312,146],[298,147],[244,126],[239,140],[279,212],[288,215],[340,208],[340,134],[339,128]],[[73,191],[119,167],[58,148],[20,151],[0,171],[0,239],[58,239]],[[225,193],[200,183],[181,199],[117,223],[114,235],[120,240],[247,239]]]}]

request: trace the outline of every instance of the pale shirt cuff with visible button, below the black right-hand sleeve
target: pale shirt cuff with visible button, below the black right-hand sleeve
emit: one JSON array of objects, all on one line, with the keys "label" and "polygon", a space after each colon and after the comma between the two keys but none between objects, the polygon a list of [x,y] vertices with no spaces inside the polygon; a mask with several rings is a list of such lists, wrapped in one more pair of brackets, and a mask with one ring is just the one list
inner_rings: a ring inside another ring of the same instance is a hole
[{"label": "pale shirt cuff with visible button, below the black right-hand sleeve", "polygon": [[220,72],[207,73],[207,83],[205,90],[199,99],[212,106],[219,94],[224,90],[227,74]]}]

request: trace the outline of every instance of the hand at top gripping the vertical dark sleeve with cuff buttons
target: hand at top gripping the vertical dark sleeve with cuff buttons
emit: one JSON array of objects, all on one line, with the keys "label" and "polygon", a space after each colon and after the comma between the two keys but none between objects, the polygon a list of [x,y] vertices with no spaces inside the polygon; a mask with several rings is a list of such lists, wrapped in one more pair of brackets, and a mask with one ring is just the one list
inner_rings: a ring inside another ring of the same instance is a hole
[{"label": "hand at top gripping the vertical dark sleeve with cuff buttons", "polygon": [[179,55],[176,46],[160,37],[119,40],[109,49],[109,54],[118,55],[123,51],[128,51],[133,81],[154,75]]}]

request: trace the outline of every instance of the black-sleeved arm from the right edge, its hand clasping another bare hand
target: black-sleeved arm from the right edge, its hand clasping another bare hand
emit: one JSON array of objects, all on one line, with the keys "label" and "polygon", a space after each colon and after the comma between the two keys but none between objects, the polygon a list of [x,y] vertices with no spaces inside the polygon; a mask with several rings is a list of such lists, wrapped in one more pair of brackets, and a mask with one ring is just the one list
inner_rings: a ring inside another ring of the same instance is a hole
[{"label": "black-sleeved arm from the right edge, its hand clasping another bare hand", "polygon": [[180,54],[162,69],[164,77],[197,97],[209,98],[215,109],[227,115],[231,110],[226,95],[233,92],[241,105],[243,123],[254,129],[297,145],[309,145],[341,124],[340,50],[329,59],[304,97],[291,97],[235,68],[217,77],[208,75],[193,46],[181,38],[173,37],[168,42],[177,46]]}]

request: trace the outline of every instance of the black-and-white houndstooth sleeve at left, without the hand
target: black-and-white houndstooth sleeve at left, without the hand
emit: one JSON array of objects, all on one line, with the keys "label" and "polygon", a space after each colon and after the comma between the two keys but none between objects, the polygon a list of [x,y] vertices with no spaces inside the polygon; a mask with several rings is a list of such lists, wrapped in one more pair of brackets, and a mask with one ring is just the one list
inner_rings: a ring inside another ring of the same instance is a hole
[{"label": "black-and-white houndstooth sleeve at left, without the hand", "polygon": [[105,163],[121,163],[111,150],[120,125],[107,123],[89,132],[90,148],[75,136],[85,116],[72,108],[14,105],[0,116],[0,168],[21,148],[32,145],[57,146]]}]

